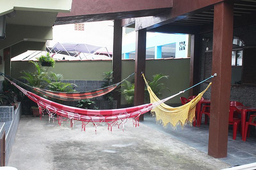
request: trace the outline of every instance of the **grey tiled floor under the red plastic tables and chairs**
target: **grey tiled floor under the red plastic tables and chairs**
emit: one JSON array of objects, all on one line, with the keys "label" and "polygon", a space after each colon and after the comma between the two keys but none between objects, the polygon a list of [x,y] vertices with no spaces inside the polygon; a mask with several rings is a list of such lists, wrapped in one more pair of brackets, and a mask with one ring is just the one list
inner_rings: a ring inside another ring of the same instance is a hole
[{"label": "grey tiled floor under the red plastic tables and chairs", "polygon": [[[208,152],[208,137],[209,137],[209,125],[202,124],[201,127],[190,127],[187,125],[182,130],[177,127],[177,130],[172,128],[164,129],[162,125],[157,125],[155,117],[150,114],[144,115],[144,122],[141,122],[150,128],[154,128],[161,132],[168,134],[184,144],[196,148],[202,152]],[[246,138],[246,142],[242,141],[241,135],[237,132],[236,140],[232,139],[232,129],[228,132],[228,156],[227,158],[221,158],[220,160],[235,166],[244,165],[256,162],[256,137]]]}]

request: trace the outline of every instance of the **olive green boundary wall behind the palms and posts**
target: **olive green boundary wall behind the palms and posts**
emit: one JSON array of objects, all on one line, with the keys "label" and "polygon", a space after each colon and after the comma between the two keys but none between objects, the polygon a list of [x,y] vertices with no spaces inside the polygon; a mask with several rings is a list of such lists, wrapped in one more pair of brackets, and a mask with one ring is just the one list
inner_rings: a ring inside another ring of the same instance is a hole
[{"label": "olive green boundary wall behind the palms and posts", "polygon": [[[122,61],[122,79],[134,72],[134,60]],[[163,90],[161,99],[180,92],[189,86],[189,64],[190,59],[168,59],[168,60],[146,60],[146,78],[151,78],[154,74],[163,73],[169,76],[164,80],[165,85],[170,89]],[[20,70],[34,71],[32,63],[28,61],[13,61],[11,75],[19,78]],[[64,79],[69,80],[102,80],[103,72],[112,70],[112,61],[58,61],[55,67],[50,67],[48,71],[61,73]],[[129,78],[134,81],[134,77]],[[188,92],[182,96],[188,97]],[[180,96],[177,96],[167,103],[180,103]],[[123,98],[121,104],[125,104]]]}]

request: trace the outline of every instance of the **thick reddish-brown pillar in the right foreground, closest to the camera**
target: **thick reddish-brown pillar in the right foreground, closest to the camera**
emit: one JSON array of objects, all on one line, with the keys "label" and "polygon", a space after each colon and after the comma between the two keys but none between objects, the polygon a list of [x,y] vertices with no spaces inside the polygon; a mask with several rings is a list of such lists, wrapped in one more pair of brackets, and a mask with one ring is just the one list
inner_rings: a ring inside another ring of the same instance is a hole
[{"label": "thick reddish-brown pillar in the right foreground, closest to the camera", "polygon": [[208,154],[214,158],[227,157],[233,6],[226,1],[214,5],[212,73],[217,77],[212,78],[208,145]]}]

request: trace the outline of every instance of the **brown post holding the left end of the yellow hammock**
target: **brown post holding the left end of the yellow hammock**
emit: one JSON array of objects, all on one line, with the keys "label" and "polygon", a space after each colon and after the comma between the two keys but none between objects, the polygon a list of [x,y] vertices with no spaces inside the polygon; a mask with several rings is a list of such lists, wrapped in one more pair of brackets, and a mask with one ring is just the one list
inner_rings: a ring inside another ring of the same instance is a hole
[{"label": "brown post holding the left end of the yellow hammock", "polygon": [[[141,72],[145,73],[146,66],[146,36],[146,29],[136,31],[134,106],[144,104],[145,82]],[[140,121],[143,120],[144,115],[141,115]]]}]

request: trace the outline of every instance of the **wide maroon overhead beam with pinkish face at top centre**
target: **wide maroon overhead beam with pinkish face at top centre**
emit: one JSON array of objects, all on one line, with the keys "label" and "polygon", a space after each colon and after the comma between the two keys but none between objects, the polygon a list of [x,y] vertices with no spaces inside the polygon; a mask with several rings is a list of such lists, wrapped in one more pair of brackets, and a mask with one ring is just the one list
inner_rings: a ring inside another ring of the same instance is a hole
[{"label": "wide maroon overhead beam with pinkish face at top centre", "polygon": [[73,0],[71,12],[59,12],[55,25],[153,16],[172,7],[172,0]]}]

